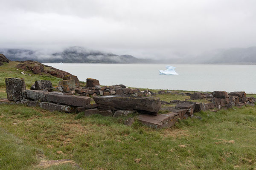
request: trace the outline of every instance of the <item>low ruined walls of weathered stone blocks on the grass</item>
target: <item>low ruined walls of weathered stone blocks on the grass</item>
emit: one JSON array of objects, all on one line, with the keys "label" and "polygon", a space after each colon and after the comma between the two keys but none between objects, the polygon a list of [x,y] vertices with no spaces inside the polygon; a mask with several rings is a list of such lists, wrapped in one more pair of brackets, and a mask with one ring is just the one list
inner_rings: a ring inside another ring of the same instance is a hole
[{"label": "low ruined walls of weathered stone blocks on the grass", "polygon": [[[246,97],[245,92],[214,91],[209,93],[177,93],[188,95],[191,100],[207,99],[207,103],[172,100],[160,101],[152,97],[154,93],[127,88],[125,85],[100,86],[96,79],[87,79],[86,87],[80,87],[76,76],[66,76],[57,87],[52,87],[49,80],[37,80],[26,90],[24,79],[6,78],[7,99],[1,99],[0,103],[38,106],[49,111],[61,111],[65,113],[84,112],[85,116],[101,114],[103,116],[135,116],[143,125],[153,128],[171,127],[178,119],[186,119],[195,112],[209,109],[231,108],[233,106],[254,105],[254,97]],[[171,91],[159,91],[157,94],[173,93]],[[176,94],[176,92],[175,92]],[[91,97],[89,97],[89,95]],[[91,104],[94,100],[95,103]],[[163,107],[162,107],[163,105]],[[165,106],[175,105],[175,106]],[[157,114],[159,111],[163,114]],[[212,110],[213,111],[213,110]],[[132,125],[134,118],[124,121],[125,125]]]}]

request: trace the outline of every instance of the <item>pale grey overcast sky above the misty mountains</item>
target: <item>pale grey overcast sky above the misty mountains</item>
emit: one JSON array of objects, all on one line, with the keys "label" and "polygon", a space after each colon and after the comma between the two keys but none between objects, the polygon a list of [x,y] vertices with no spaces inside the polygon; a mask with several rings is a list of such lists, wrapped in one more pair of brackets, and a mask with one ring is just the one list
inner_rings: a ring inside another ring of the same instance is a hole
[{"label": "pale grey overcast sky above the misty mountains", "polygon": [[256,0],[0,0],[0,48],[168,58],[256,45]]}]

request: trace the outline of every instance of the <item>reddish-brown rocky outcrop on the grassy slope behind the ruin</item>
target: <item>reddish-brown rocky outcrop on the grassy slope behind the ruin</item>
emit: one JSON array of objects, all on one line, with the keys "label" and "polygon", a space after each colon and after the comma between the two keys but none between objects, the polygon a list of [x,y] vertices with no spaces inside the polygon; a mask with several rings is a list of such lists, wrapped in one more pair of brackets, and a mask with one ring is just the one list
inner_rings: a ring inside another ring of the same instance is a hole
[{"label": "reddish-brown rocky outcrop on the grassy slope behind the ruin", "polygon": [[48,65],[44,65],[37,61],[22,61],[20,64],[16,65],[16,68],[32,71],[34,74],[50,74],[54,77],[58,77],[63,79],[67,75],[72,75],[66,71],[59,70],[57,68],[50,67]]}]

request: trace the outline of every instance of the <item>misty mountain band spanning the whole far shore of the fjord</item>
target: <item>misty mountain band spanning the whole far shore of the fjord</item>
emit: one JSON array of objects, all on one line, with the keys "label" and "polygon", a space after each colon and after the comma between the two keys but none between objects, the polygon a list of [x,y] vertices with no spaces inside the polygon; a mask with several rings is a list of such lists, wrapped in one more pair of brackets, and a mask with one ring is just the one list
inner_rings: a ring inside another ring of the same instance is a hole
[{"label": "misty mountain band spanning the whole far shore of the fjord", "polygon": [[131,55],[117,55],[78,46],[57,52],[0,48],[0,53],[12,61],[35,60],[43,63],[256,64],[256,47],[216,49],[197,56],[166,59],[139,59]]}]

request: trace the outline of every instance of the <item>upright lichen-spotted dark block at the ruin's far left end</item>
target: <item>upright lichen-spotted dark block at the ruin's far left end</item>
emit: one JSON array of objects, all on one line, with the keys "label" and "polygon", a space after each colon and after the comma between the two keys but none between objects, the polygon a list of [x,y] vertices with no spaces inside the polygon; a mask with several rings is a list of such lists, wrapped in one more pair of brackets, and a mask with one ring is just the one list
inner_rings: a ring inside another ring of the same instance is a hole
[{"label": "upright lichen-spotted dark block at the ruin's far left end", "polygon": [[6,78],[7,99],[11,101],[20,101],[23,99],[22,91],[26,90],[23,78]]}]

